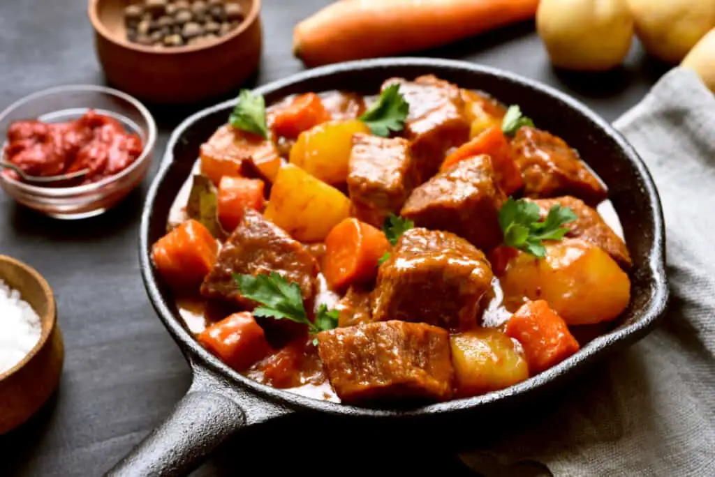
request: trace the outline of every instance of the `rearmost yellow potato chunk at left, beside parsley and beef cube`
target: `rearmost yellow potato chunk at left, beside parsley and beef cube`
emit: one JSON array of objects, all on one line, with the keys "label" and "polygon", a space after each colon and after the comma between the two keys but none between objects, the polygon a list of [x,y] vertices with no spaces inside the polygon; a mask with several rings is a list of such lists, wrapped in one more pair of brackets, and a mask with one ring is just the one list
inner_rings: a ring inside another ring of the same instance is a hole
[{"label": "rearmost yellow potato chunk at left, beside parsley and beef cube", "polygon": [[303,131],[290,149],[290,164],[308,171],[328,184],[347,179],[352,136],[370,133],[363,121],[328,121]]}]

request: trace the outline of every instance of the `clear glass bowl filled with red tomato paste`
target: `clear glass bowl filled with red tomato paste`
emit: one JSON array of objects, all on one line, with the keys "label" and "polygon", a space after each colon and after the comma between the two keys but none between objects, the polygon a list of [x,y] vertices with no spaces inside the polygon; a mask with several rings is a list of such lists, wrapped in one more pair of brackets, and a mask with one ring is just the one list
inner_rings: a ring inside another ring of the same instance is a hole
[{"label": "clear glass bowl filled with red tomato paste", "polygon": [[0,172],[0,187],[20,204],[57,219],[107,211],[144,179],[157,126],[149,111],[122,91],[60,86],[17,101],[0,113],[4,160],[30,176],[88,169],[78,185],[26,184]]}]

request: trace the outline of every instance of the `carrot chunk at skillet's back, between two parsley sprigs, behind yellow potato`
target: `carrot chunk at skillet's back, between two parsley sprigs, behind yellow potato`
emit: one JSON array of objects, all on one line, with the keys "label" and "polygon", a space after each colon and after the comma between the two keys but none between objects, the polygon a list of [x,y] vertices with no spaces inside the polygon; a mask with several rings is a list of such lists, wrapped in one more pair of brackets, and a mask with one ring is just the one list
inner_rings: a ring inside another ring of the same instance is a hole
[{"label": "carrot chunk at skillet's back, between two parsley sprigs, behind yellow potato", "polygon": [[271,129],[276,136],[297,138],[298,134],[330,119],[320,96],[306,93],[297,96],[284,108],[272,114]]}]

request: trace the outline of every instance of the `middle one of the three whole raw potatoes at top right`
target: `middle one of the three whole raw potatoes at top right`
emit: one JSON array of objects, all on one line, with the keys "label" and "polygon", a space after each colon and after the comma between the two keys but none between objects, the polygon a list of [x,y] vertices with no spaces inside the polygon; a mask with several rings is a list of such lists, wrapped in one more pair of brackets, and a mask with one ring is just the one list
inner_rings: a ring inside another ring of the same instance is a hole
[{"label": "middle one of the three whole raw potatoes at top right", "polygon": [[628,0],[636,34],[656,58],[678,63],[715,27],[713,0]]}]

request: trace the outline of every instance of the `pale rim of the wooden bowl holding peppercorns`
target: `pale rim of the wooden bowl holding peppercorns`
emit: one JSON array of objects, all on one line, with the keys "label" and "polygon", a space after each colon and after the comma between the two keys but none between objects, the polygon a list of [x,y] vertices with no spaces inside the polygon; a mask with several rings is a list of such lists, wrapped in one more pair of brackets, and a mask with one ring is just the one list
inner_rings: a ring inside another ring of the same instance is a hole
[{"label": "pale rim of the wooden bowl holding peppercorns", "polygon": [[159,55],[171,55],[171,54],[182,54],[182,53],[193,53],[194,51],[201,51],[215,48],[216,46],[227,43],[237,36],[242,35],[247,29],[255,24],[258,19],[261,0],[251,0],[251,9],[245,19],[239,24],[237,29],[232,31],[230,34],[221,36],[215,41],[209,41],[207,44],[199,45],[185,45],[185,46],[173,46],[172,48],[154,48],[153,46],[144,46],[132,43],[126,39],[118,39],[116,36],[112,35],[109,30],[104,26],[102,21],[99,21],[99,15],[97,14],[97,6],[99,2],[107,0],[89,0],[89,7],[87,9],[87,14],[89,15],[89,22],[92,24],[94,31],[97,31],[104,39],[110,41],[111,43],[128,50],[138,51],[141,53],[148,54],[159,54]]}]

